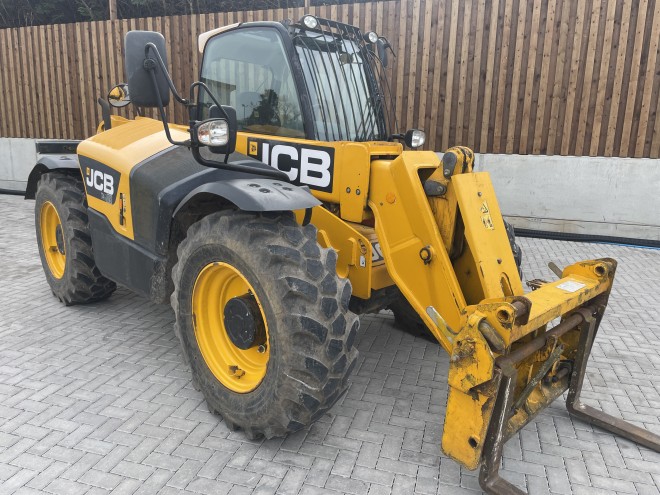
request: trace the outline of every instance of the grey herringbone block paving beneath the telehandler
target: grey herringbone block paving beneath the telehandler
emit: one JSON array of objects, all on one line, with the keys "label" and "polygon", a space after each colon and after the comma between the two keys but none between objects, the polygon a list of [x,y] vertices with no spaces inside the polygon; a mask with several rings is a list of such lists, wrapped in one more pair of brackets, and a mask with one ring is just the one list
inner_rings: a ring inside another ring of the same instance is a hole
[{"label": "grey herringbone block paving beneath the telehandler", "polygon": [[[168,307],[120,289],[65,308],[39,263],[32,202],[0,196],[0,493],[473,493],[440,453],[445,353],[363,318],[347,395],[311,428],[249,441],[210,414]],[[584,397],[660,433],[660,251],[521,239],[524,270],[620,262]],[[660,493],[660,454],[546,409],[505,449],[537,493]]]}]

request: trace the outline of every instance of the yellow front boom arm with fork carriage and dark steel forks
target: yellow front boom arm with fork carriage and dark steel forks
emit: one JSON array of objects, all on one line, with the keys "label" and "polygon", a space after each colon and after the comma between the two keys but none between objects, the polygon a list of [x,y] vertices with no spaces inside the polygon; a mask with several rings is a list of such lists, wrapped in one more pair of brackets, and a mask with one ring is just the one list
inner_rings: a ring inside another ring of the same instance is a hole
[{"label": "yellow front boom arm with fork carriage and dark steel forks", "polygon": [[576,263],[525,293],[489,174],[472,166],[469,149],[452,148],[442,161],[432,152],[377,159],[370,174],[389,275],[450,355],[444,452],[469,469],[482,464],[486,491],[519,493],[499,477],[502,445],[569,386],[569,411],[660,448],[660,437],[579,402],[616,261]]}]

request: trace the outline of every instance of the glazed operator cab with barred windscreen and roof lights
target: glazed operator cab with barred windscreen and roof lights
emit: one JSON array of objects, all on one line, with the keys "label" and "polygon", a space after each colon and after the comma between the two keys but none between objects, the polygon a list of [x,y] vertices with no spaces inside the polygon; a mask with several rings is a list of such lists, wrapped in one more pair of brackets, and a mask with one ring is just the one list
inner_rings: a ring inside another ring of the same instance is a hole
[{"label": "glazed operator cab with barred windscreen and roof lights", "polygon": [[376,33],[311,15],[234,24],[200,35],[200,80],[236,109],[239,132],[387,141],[399,137],[387,47]]}]

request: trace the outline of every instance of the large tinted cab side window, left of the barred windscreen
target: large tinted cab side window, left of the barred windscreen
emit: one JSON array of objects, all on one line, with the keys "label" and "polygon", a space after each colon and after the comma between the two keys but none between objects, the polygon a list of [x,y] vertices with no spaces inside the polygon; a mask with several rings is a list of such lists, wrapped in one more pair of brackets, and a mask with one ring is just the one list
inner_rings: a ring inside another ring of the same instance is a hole
[{"label": "large tinted cab side window, left of the barred windscreen", "polygon": [[[219,103],[236,109],[239,131],[305,137],[289,61],[274,29],[230,31],[209,40],[202,81]],[[202,92],[201,99],[206,118],[210,98]]]}]

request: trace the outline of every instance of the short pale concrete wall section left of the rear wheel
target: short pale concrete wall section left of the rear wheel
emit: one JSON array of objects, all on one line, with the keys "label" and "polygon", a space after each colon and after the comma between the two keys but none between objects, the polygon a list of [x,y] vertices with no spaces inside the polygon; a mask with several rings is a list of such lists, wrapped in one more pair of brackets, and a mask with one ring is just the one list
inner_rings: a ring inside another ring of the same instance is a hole
[{"label": "short pale concrete wall section left of the rear wheel", "polygon": [[0,137],[0,189],[25,191],[28,174],[37,163],[35,142]]}]

